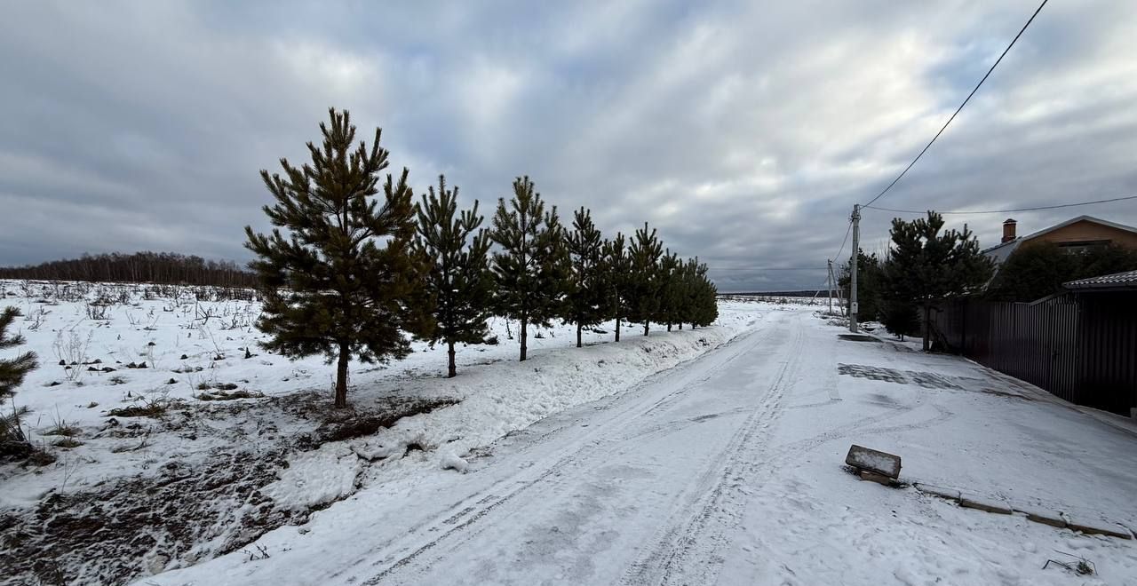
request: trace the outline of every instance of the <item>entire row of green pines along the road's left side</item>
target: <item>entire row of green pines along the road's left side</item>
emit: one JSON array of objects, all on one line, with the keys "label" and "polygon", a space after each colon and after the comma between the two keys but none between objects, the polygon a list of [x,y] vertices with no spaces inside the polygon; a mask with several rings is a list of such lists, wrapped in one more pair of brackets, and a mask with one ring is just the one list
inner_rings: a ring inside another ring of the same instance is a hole
[{"label": "entire row of green pines along the road's left side", "polygon": [[351,357],[402,358],[410,352],[404,332],[446,344],[453,377],[455,345],[484,342],[495,315],[518,323],[521,360],[530,326],[574,324],[580,346],[584,329],[607,320],[619,342],[625,323],[648,335],[653,323],[671,330],[717,317],[705,265],[664,249],[646,223],[630,238],[604,238],[581,208],[563,225],[528,176],[498,201],[489,226],[476,201],[458,209],[458,189],[441,176],[415,203],[404,168],[398,179],[387,175],[379,198],[388,167],[381,131],[368,149],[355,143],[347,111],[329,114],[323,143],[308,143],[310,164],[282,159],[283,176],[262,171],[276,200],[264,208],[275,227],[247,227],[246,245],[265,290],[265,346],[337,361],[337,407],[347,405]]}]

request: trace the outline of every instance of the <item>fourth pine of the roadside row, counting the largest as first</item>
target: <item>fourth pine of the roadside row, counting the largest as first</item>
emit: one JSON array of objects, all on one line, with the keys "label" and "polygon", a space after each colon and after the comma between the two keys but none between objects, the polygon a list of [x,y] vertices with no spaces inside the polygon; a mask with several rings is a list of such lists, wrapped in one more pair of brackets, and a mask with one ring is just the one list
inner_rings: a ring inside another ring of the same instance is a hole
[{"label": "fourth pine of the roadside row, counting the largest as first", "polygon": [[591,214],[582,206],[573,214],[572,229],[564,231],[564,245],[572,273],[565,296],[565,321],[576,324],[576,348],[581,333],[605,318],[604,242],[592,224]]}]

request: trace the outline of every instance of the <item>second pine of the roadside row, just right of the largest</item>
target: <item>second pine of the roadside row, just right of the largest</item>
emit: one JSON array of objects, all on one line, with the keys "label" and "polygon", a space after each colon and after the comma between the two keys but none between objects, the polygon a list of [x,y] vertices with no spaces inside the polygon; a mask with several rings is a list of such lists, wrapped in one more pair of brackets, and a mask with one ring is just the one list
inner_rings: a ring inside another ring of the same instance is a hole
[{"label": "second pine of the roadside row, just right of the largest", "polygon": [[447,190],[446,177],[439,175],[438,192],[430,187],[422,198],[415,207],[418,234],[414,249],[429,263],[424,285],[434,327],[420,337],[430,341],[431,346],[438,342],[446,344],[447,377],[453,378],[457,375],[454,345],[480,344],[488,334],[485,319],[493,299],[490,238],[484,229],[478,229],[483,219],[478,214],[478,202],[459,214],[458,187]]}]

